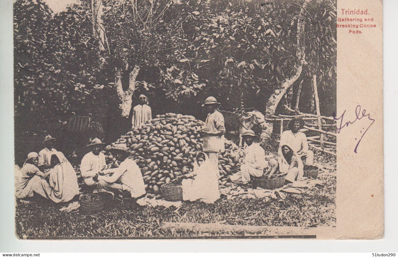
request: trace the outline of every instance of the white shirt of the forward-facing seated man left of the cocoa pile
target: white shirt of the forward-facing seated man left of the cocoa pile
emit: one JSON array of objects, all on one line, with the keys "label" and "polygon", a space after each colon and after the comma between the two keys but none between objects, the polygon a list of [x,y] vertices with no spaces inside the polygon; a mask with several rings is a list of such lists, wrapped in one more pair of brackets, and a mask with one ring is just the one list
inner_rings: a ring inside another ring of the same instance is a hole
[{"label": "white shirt of the forward-facing seated man left of the cocoa pile", "polygon": [[80,163],[80,172],[82,172],[82,177],[84,178],[84,183],[87,185],[95,184],[92,179],[98,172],[105,168],[105,155],[100,153],[99,155],[94,155],[93,152],[87,153],[82,158]]}]

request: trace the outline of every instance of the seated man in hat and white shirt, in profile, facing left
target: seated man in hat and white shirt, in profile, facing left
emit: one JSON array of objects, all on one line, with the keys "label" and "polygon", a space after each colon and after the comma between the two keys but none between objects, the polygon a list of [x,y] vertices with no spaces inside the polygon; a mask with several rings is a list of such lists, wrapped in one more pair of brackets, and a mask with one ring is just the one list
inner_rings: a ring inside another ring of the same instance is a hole
[{"label": "seated man in hat and white shirt, in profile, facing left", "polygon": [[111,191],[114,193],[129,195],[133,198],[144,195],[145,184],[139,166],[129,157],[130,152],[126,144],[119,144],[109,148],[109,151],[121,163],[119,167],[102,170],[94,181],[98,180],[98,191]]}]

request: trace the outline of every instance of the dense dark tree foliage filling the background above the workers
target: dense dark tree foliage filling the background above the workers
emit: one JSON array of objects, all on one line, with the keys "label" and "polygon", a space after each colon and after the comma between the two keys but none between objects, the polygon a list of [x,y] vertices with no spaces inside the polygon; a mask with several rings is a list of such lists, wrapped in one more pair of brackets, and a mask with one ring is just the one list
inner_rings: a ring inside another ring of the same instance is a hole
[{"label": "dense dark tree foliage filling the background above the workers", "polygon": [[[267,99],[298,61],[297,17],[304,0],[263,2],[104,0],[106,40],[101,50],[86,0],[59,14],[43,0],[16,0],[17,130],[28,130],[29,123],[37,129],[60,124],[72,112],[91,113],[109,137],[118,137],[129,122],[119,115],[115,69],[127,89],[136,66],[135,95],[148,95],[154,114],[205,118],[199,104],[209,95],[217,97],[223,109],[243,102],[264,111]],[[303,81],[301,99],[310,99],[312,75],[318,75],[321,112],[331,115],[336,108],[336,2],[310,1],[303,19],[308,64],[293,91],[297,93]],[[300,101],[305,112],[310,105]]]}]

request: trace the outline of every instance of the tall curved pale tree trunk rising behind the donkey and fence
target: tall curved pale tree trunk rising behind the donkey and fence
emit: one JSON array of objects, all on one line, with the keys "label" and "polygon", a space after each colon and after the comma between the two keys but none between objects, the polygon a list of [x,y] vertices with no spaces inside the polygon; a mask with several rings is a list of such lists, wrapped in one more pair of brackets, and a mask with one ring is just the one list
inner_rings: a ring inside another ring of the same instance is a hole
[{"label": "tall curved pale tree trunk rising behind the donkey and fence", "polygon": [[[304,10],[308,4],[308,1],[304,2],[300,14],[298,14],[298,19],[297,19],[297,62],[293,66],[293,75],[291,77],[286,78],[281,85],[279,85],[274,93],[269,97],[267,105],[265,107],[265,116],[271,117],[272,115],[275,114],[276,108],[285,95],[287,89],[293,85],[297,81],[297,79],[301,75],[302,71],[302,66],[306,65],[307,62],[305,61],[305,44],[304,44],[304,28],[305,28],[305,21],[302,18],[304,15]],[[263,130],[263,136],[265,137],[270,137],[271,133],[273,131],[273,123],[268,122],[267,123],[267,128]]]}]

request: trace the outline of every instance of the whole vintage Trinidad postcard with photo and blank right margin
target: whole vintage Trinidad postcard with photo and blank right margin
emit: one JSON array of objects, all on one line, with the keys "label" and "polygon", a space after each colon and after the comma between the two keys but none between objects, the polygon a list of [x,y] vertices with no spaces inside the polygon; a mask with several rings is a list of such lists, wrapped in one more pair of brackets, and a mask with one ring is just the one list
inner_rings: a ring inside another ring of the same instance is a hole
[{"label": "whole vintage Trinidad postcard with photo and blank right margin", "polygon": [[381,0],[15,0],[20,239],[380,239]]}]

